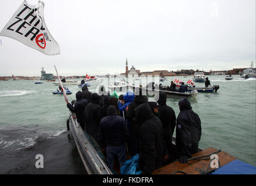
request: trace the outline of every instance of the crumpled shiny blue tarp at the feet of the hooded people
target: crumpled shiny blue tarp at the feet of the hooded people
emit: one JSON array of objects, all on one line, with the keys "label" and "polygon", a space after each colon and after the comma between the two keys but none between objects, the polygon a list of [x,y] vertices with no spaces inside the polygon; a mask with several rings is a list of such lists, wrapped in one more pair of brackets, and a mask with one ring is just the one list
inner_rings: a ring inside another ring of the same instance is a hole
[{"label": "crumpled shiny blue tarp at the feet of the hooded people", "polygon": [[139,167],[139,154],[132,156],[131,159],[126,160],[120,169],[121,174],[141,174]]}]

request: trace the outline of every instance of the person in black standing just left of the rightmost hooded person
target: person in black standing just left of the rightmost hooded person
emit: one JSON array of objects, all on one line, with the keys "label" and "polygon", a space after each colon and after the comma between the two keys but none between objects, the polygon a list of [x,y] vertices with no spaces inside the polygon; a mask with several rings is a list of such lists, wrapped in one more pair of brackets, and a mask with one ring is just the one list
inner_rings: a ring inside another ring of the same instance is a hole
[{"label": "person in black standing just left of the rightmost hooded person", "polygon": [[174,152],[172,149],[172,137],[174,128],[176,126],[176,115],[170,106],[166,105],[166,93],[159,92],[159,100],[157,101],[159,104],[159,115],[160,120],[163,124],[163,130],[164,130],[164,142],[167,146],[169,158],[174,157]]}]

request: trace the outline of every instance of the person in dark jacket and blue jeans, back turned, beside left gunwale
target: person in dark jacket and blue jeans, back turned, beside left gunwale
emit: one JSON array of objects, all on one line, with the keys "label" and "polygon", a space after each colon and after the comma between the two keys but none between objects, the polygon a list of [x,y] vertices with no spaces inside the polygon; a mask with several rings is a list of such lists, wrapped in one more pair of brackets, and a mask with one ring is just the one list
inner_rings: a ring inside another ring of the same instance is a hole
[{"label": "person in dark jacket and blue jeans, back turned, beside left gunwale", "polygon": [[107,108],[107,116],[100,121],[98,141],[101,148],[106,144],[107,163],[113,168],[115,156],[120,167],[126,160],[125,141],[128,141],[129,131],[121,116],[117,116],[117,109],[110,105]]}]

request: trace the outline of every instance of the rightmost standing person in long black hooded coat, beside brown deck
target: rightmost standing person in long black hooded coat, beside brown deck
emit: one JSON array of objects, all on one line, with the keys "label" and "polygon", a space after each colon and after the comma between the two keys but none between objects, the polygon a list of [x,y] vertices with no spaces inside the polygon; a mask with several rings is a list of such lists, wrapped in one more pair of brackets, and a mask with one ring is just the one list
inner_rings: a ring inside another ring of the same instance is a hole
[{"label": "rightmost standing person in long black hooded coat, beside brown deck", "polygon": [[192,110],[187,98],[180,99],[178,106],[180,106],[180,113],[176,126],[177,156],[181,163],[186,163],[187,159],[198,151],[202,131],[201,120]]}]

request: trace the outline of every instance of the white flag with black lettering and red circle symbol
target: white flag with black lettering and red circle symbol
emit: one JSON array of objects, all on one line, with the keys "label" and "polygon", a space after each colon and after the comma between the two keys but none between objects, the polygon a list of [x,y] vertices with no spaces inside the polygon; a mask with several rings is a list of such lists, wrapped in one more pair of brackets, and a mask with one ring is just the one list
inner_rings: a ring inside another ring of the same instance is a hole
[{"label": "white flag with black lettering and red circle symbol", "polygon": [[23,1],[0,35],[13,38],[46,55],[58,55],[59,45],[44,22],[44,2],[29,5]]}]

